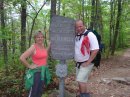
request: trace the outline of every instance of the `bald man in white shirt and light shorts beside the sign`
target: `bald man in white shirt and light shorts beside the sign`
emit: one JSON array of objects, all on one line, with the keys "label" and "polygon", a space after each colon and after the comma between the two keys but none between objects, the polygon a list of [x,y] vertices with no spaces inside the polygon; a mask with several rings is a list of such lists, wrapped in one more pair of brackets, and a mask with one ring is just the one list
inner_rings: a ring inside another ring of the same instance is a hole
[{"label": "bald man in white shirt and light shorts beside the sign", "polygon": [[87,31],[82,20],[77,20],[75,37],[75,61],[76,61],[76,81],[78,82],[80,97],[90,97],[87,92],[87,81],[94,66],[92,60],[95,58],[99,45],[96,36]]}]

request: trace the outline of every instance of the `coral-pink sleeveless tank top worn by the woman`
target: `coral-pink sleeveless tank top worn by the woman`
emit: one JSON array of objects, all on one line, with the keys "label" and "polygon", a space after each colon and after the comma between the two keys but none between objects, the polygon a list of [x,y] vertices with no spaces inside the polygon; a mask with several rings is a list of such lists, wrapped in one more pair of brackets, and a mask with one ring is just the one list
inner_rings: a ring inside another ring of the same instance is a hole
[{"label": "coral-pink sleeveless tank top worn by the woman", "polygon": [[36,44],[35,47],[35,54],[32,55],[32,61],[34,64],[38,66],[45,66],[47,63],[48,53],[46,49],[40,49]]}]

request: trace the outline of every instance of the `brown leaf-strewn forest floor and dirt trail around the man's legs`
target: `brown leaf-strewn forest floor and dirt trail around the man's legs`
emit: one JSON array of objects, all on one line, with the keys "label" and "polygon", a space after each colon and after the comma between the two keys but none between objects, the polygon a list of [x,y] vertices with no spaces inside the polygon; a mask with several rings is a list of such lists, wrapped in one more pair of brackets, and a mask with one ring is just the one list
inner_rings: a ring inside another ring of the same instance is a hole
[{"label": "brown leaf-strewn forest floor and dirt trail around the man's legs", "polygon": [[[120,56],[101,61],[100,68],[92,72],[88,81],[91,97],[130,97],[130,49]],[[65,79],[65,97],[76,97],[78,90],[75,74]],[[57,97],[51,93],[49,97]]]}]

